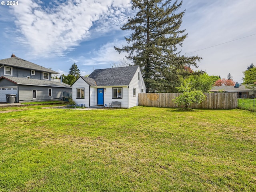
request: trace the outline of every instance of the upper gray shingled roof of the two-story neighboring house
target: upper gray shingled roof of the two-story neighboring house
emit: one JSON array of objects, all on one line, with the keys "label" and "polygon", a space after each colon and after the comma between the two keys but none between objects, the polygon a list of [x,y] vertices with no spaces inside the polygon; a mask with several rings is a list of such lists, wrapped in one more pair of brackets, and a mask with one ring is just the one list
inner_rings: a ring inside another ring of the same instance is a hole
[{"label": "upper gray shingled roof of the two-story neighboring house", "polygon": [[18,57],[10,57],[7,59],[1,59],[0,64],[5,64],[5,65],[11,66],[11,67],[18,67],[18,68],[24,68],[24,69],[29,69],[29,70],[48,72],[51,74],[58,74],[58,72],[56,72],[56,71],[39,66],[37,64],[34,64],[32,62],[26,61],[26,60],[18,58]]}]

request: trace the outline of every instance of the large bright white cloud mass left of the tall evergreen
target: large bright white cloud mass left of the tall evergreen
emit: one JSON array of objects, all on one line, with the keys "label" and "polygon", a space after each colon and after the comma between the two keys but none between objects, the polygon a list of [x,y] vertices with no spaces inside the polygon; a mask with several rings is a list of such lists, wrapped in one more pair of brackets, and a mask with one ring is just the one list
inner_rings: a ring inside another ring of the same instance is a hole
[{"label": "large bright white cloud mass left of the tall evergreen", "polygon": [[17,32],[22,34],[18,41],[30,47],[30,54],[63,55],[90,37],[94,22],[102,19],[97,27],[102,33],[115,24],[119,27],[126,12],[123,6],[129,8],[130,1],[68,0],[45,8],[42,2],[24,0],[12,6],[12,14],[16,16]]}]

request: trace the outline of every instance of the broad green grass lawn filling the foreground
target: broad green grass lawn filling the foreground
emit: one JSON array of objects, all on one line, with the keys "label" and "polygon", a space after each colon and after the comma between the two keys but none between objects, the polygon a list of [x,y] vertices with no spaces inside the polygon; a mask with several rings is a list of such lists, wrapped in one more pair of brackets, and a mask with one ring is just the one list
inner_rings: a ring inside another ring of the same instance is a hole
[{"label": "broad green grass lawn filling the foreground", "polygon": [[1,192],[256,191],[255,113],[24,109],[0,113]]}]

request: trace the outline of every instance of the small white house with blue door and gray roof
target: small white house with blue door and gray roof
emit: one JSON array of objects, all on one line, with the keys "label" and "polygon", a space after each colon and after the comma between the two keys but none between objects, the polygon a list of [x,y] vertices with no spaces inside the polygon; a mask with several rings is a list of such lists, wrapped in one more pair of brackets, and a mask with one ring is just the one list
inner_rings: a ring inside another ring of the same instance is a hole
[{"label": "small white house with blue door and gray roof", "polygon": [[94,70],[72,85],[73,100],[86,107],[105,106],[114,101],[122,108],[138,106],[138,94],[146,91],[139,66]]}]

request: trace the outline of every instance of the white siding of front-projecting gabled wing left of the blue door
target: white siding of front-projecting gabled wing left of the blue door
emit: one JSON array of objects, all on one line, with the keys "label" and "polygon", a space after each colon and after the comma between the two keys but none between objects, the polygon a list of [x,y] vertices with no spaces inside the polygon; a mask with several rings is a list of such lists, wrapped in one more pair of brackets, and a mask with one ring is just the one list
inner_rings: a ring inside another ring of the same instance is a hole
[{"label": "white siding of front-projecting gabled wing left of the blue door", "polygon": [[[84,88],[84,99],[76,98],[76,88]],[[72,85],[72,99],[79,105],[89,107],[89,85],[81,77]]]}]

